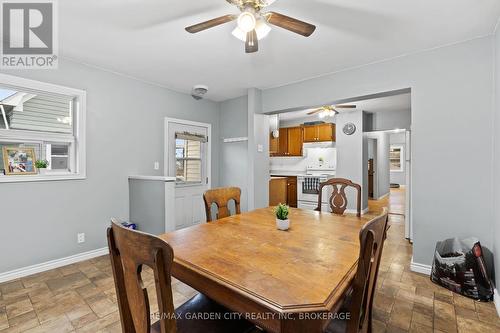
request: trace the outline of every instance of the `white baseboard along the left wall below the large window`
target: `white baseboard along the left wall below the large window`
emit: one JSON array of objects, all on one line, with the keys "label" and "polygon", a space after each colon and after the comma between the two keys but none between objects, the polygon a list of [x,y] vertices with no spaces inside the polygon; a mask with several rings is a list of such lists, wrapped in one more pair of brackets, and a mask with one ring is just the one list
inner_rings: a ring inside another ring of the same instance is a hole
[{"label": "white baseboard along the left wall below the large window", "polygon": [[108,248],[103,247],[97,250],[92,250],[88,252],[78,253],[69,257],[50,260],[41,264],[36,264],[32,266],[22,267],[14,269],[12,271],[0,273],[0,283],[19,279],[28,275],[45,272],[54,268],[59,268],[62,266],[74,264],[76,262],[92,259],[95,257],[100,257],[102,255],[108,254]]}]

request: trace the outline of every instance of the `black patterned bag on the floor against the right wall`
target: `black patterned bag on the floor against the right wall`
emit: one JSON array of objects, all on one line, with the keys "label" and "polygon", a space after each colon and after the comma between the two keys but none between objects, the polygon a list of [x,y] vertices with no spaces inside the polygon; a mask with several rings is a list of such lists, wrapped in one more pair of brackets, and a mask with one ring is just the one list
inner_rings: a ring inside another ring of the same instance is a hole
[{"label": "black patterned bag on the floor against the right wall", "polygon": [[450,238],[436,244],[431,280],[444,288],[475,300],[493,301],[491,271],[492,262],[487,265],[476,238]]}]

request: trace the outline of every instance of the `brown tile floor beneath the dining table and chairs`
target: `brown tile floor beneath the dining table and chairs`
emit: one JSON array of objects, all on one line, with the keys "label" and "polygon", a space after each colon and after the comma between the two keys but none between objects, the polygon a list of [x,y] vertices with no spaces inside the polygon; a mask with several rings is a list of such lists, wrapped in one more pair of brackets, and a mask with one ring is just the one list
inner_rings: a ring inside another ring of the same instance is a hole
[{"label": "brown tile floor beneath the dining table and chairs", "polygon": [[[370,213],[384,205],[404,212],[404,191],[370,200]],[[493,303],[453,294],[411,272],[404,216],[391,214],[390,223],[374,302],[375,332],[500,332]],[[152,288],[151,271],[143,279]],[[113,283],[109,258],[102,256],[0,284],[0,332],[121,332]],[[172,289],[176,307],[196,294],[175,279]],[[155,293],[149,294],[156,311]]]}]

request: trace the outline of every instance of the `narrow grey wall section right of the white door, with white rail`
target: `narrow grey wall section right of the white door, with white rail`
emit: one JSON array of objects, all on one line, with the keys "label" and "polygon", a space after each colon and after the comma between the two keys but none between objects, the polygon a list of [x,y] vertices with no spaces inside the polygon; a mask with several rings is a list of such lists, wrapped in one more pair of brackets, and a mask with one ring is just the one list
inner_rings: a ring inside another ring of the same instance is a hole
[{"label": "narrow grey wall section right of the white door, with white rail", "polygon": [[247,96],[221,103],[220,186],[241,188],[241,209],[243,211],[248,210],[248,142],[222,143],[222,139],[248,136],[247,114]]}]

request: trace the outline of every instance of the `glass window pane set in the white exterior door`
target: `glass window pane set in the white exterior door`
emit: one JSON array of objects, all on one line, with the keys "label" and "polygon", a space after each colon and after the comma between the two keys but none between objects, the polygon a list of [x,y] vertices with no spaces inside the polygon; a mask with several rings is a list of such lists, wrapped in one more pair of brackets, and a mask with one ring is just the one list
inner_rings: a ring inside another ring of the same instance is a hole
[{"label": "glass window pane set in the white exterior door", "polygon": [[206,137],[175,133],[175,176],[177,183],[196,184],[203,180],[203,156]]}]

